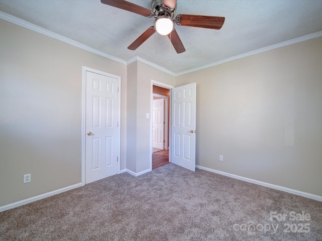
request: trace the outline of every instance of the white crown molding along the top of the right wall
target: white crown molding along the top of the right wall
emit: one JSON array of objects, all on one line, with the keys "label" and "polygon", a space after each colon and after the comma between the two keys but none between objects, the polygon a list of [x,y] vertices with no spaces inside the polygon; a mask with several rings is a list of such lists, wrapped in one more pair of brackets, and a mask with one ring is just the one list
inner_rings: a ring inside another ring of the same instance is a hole
[{"label": "white crown molding along the top of the right wall", "polygon": [[224,64],[224,63],[227,63],[227,62],[230,62],[230,61],[233,61],[233,60],[249,57],[251,55],[260,54],[260,53],[263,53],[263,52],[266,52],[266,51],[282,48],[282,47],[285,47],[285,46],[288,46],[288,45],[291,45],[291,44],[300,43],[300,42],[310,40],[310,39],[314,39],[314,38],[318,38],[318,37],[322,37],[322,31],[319,31],[319,32],[316,32],[316,33],[313,33],[313,34],[308,34],[308,35],[298,37],[298,38],[295,38],[295,39],[287,40],[287,41],[284,41],[284,42],[281,42],[281,43],[278,43],[278,44],[273,44],[271,46],[267,46],[267,47],[264,47],[264,48],[261,48],[261,49],[253,50],[253,51],[250,51],[250,52],[247,52],[247,53],[244,53],[244,54],[239,54],[239,55],[227,58],[227,59],[223,59],[223,60],[219,60],[217,62],[213,62],[213,63],[206,64],[206,65],[203,65],[203,66],[199,66],[197,68],[189,69],[189,70],[186,70],[186,71],[183,71],[183,72],[180,72],[180,73],[176,73],[174,76],[180,76],[180,75],[183,75],[183,74],[192,73],[192,72],[199,71],[199,70],[202,70],[202,69],[206,69],[206,68],[209,68],[209,67],[213,67],[213,66],[216,66],[216,65],[219,65],[219,64]]}]

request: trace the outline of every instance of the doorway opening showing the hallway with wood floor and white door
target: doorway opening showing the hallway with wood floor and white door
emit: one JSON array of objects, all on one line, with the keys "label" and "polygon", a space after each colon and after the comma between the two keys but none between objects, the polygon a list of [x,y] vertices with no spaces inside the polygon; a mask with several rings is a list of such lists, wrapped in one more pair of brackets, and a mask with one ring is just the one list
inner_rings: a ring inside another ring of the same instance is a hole
[{"label": "doorway opening showing the hallway with wood floor and white door", "polygon": [[152,85],[152,170],[169,163],[170,89]]}]

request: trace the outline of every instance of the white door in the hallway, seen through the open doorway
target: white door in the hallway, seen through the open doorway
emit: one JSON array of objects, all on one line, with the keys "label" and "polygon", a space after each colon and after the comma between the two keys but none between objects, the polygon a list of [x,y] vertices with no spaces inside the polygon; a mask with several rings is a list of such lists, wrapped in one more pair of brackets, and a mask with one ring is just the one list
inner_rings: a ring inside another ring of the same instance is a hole
[{"label": "white door in the hallway, seen through the open doorway", "polygon": [[163,98],[153,99],[152,110],[152,144],[153,147],[164,149],[164,109],[165,100]]}]

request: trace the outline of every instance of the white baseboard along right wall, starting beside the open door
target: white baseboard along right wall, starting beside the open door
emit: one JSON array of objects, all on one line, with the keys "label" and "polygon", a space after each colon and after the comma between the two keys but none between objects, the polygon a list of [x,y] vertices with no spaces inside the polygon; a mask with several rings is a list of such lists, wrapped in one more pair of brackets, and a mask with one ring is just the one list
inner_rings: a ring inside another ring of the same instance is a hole
[{"label": "white baseboard along right wall, starting beside the open door", "polygon": [[214,170],[214,169],[211,169],[211,168],[202,167],[202,166],[198,166],[198,165],[196,165],[196,168],[201,169],[201,170],[205,170],[205,171],[208,171],[208,172],[213,172],[213,173],[216,173],[216,174],[219,174],[219,175],[231,177],[231,178],[234,178],[234,179],[238,179],[238,180],[241,180],[241,181],[254,183],[254,184],[257,184],[257,185],[264,186],[264,187],[270,187],[270,188],[273,188],[273,189],[276,189],[276,190],[292,193],[292,194],[299,195],[299,196],[302,196],[302,197],[307,197],[307,198],[310,198],[310,199],[314,199],[316,201],[320,201],[320,202],[322,201],[322,196],[317,196],[315,194],[302,192],[302,191],[298,191],[298,190],[290,189],[290,188],[287,188],[287,187],[274,185],[274,184],[267,183],[267,182],[261,182],[261,181],[257,181],[257,180],[251,179],[251,178],[241,177],[241,176],[237,176],[237,175],[230,174],[230,173],[227,173],[227,172],[222,172],[222,171],[218,171],[218,170]]}]

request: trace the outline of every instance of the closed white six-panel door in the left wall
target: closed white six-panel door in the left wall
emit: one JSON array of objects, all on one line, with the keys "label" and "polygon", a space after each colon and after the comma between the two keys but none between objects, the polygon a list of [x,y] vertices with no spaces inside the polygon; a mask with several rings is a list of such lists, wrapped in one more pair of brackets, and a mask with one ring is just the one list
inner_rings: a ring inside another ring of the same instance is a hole
[{"label": "closed white six-panel door in the left wall", "polygon": [[86,71],[85,182],[117,174],[118,79]]}]

